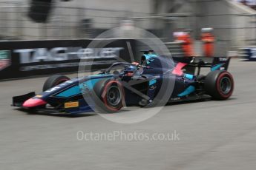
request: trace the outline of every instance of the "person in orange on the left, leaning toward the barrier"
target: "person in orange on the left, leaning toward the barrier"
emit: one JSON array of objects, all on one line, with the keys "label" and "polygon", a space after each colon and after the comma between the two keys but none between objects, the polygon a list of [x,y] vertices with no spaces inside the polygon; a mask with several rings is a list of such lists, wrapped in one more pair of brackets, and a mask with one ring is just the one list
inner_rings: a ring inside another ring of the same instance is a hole
[{"label": "person in orange on the left, leaning toward the barrier", "polygon": [[186,57],[194,57],[193,42],[188,32],[174,33],[175,41],[182,42],[183,52]]}]

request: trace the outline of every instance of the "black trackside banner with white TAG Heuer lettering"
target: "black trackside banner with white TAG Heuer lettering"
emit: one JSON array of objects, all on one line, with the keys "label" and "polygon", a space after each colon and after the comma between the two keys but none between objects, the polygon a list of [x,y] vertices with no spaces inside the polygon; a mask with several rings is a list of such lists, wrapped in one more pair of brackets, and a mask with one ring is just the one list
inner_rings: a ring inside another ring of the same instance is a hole
[{"label": "black trackside banner with white TAG Heuer lettering", "polygon": [[85,64],[87,60],[93,60],[92,69],[108,67],[117,58],[131,60],[128,44],[134,49],[134,40],[93,40],[106,45],[88,48],[91,41],[0,41],[0,79],[76,72],[80,59],[83,59]]}]

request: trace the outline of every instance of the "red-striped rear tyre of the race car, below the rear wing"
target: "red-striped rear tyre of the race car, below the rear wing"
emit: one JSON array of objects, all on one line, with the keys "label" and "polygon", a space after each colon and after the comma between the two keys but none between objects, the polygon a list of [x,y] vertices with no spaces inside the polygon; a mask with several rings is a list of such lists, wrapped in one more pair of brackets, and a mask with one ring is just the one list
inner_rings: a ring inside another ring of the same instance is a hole
[{"label": "red-striped rear tyre of the race car, below the rear wing", "polygon": [[232,75],[223,70],[209,72],[205,82],[206,94],[214,100],[226,100],[230,98],[234,90]]}]

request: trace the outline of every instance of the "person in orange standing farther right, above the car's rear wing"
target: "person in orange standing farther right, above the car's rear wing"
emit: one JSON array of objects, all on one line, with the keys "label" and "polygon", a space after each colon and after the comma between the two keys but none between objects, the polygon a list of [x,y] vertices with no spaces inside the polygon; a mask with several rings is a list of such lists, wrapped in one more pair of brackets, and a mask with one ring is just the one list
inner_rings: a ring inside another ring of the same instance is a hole
[{"label": "person in orange standing farther right, above the car's rear wing", "polygon": [[212,34],[212,28],[203,28],[201,34],[201,40],[203,41],[203,54],[206,57],[214,56],[214,35]]}]

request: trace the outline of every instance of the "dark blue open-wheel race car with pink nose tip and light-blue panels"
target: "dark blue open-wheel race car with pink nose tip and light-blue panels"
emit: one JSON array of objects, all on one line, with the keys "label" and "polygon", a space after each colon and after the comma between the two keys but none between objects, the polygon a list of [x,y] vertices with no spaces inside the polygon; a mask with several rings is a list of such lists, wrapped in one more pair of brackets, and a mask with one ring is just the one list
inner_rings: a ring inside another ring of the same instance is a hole
[{"label": "dark blue open-wheel race car with pink nose tip and light-blue panels", "polygon": [[[206,61],[208,60],[208,61]],[[97,75],[69,79],[53,75],[43,92],[13,97],[13,106],[33,112],[118,112],[123,106],[228,99],[234,89],[230,58],[168,58],[145,52],[142,62],[117,62]],[[201,68],[209,68],[201,75]],[[197,71],[197,72],[196,72]]]}]

